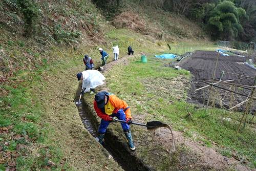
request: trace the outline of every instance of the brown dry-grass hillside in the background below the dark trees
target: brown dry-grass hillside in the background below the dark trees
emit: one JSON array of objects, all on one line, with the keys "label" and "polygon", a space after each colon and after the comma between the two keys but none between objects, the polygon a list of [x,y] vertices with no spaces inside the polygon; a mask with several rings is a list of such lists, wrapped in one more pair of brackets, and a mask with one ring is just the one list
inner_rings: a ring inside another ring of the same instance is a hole
[{"label": "brown dry-grass hillside in the background below the dark trees", "polygon": [[123,12],[113,19],[117,28],[130,28],[158,40],[165,39],[167,42],[208,39],[195,22],[184,16],[151,7],[147,2],[143,4],[129,1],[122,10]]}]

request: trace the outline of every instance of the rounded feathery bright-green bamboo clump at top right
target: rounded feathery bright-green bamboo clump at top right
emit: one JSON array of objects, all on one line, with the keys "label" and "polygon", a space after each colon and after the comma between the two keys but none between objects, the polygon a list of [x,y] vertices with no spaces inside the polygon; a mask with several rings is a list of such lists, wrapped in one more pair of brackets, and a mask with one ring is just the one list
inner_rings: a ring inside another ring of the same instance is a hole
[{"label": "rounded feathery bright-green bamboo clump at top right", "polygon": [[246,17],[243,8],[237,8],[234,3],[224,1],[219,3],[210,13],[208,28],[215,38],[232,40],[243,32],[240,18]]}]

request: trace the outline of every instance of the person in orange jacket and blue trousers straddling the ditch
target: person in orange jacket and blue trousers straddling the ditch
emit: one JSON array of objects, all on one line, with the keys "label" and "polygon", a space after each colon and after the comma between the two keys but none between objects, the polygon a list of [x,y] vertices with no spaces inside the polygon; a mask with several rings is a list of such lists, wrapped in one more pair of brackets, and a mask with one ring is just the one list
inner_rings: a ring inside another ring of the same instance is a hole
[{"label": "person in orange jacket and blue trousers straddling the ditch", "polygon": [[119,99],[117,96],[106,91],[102,91],[95,95],[94,109],[97,115],[101,118],[98,136],[99,143],[103,144],[106,128],[112,121],[112,117],[117,117],[120,120],[126,121],[126,123],[121,122],[122,129],[126,139],[128,140],[130,149],[134,151],[135,146],[129,126],[132,123],[130,106],[128,106],[125,101]]}]

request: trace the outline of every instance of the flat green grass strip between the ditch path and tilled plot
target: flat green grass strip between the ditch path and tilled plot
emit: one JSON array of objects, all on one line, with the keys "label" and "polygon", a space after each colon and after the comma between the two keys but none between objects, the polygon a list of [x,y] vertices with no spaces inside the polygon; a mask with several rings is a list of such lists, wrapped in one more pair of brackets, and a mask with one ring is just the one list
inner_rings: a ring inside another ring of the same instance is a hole
[{"label": "flat green grass strip between the ditch path and tilled plot", "polygon": [[[109,34],[115,35],[112,38],[116,43],[123,44],[124,31],[117,30]],[[126,35],[128,36],[129,33],[126,33]],[[202,42],[196,44],[185,42],[177,47],[178,51],[191,47],[193,50],[205,50],[205,48],[214,50],[216,48],[215,46],[209,46],[209,44],[202,45]],[[143,50],[143,52],[149,54],[154,51],[157,52],[157,49],[152,49],[150,46],[139,47],[138,50]],[[240,119],[240,113],[230,115],[229,112],[220,109],[194,108],[193,104],[185,101],[187,89],[184,87],[188,87],[188,85],[184,83],[188,84],[186,80],[189,79],[189,74],[186,71],[175,71],[172,68],[163,67],[164,64],[168,64],[170,61],[156,59],[153,55],[148,55],[148,63],[142,64],[138,60],[139,57],[133,59],[129,66],[115,66],[106,75],[108,88],[129,103],[135,119],[138,117],[144,121],[157,119],[167,122],[172,124],[176,130],[184,132],[186,136],[202,141],[206,146],[211,147],[212,143],[217,143],[220,146],[218,151],[225,156],[230,157],[232,153],[237,153],[239,157],[245,156],[251,162],[251,166],[255,167],[255,131],[246,127],[243,133],[235,133],[236,121]],[[184,119],[188,112],[193,114],[193,121]],[[232,121],[222,122],[222,118],[226,117],[230,117]],[[137,129],[139,128],[136,127]],[[138,137],[146,136],[144,133],[136,135],[135,130],[133,133],[136,136],[136,141],[138,141]],[[147,148],[145,145],[140,142],[137,153],[147,158],[150,156],[147,153],[150,147]],[[150,160],[150,158],[146,161],[156,162]],[[156,165],[158,168],[162,168],[164,165],[169,166],[167,160],[166,163],[162,161],[159,165]]]}]

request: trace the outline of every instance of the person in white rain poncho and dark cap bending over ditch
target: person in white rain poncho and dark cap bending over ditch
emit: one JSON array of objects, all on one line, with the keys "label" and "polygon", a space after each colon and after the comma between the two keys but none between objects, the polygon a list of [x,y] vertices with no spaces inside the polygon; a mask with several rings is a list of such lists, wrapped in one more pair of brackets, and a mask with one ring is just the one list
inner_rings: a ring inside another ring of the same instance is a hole
[{"label": "person in white rain poncho and dark cap bending over ditch", "polygon": [[95,88],[104,84],[103,80],[106,78],[97,70],[86,70],[76,74],[77,80],[82,80],[82,94],[92,91],[95,92]]}]

